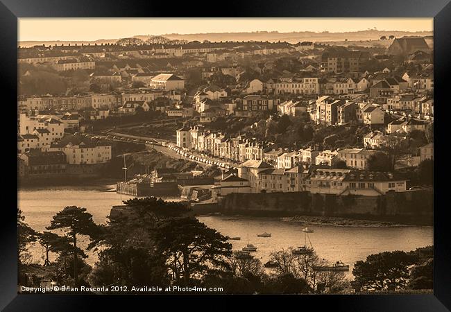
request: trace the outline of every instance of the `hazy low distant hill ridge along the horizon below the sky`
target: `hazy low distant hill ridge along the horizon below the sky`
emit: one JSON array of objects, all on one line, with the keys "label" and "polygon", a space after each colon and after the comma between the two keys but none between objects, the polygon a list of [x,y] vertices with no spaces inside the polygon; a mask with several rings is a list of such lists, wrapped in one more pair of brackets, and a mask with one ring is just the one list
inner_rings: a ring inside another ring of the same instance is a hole
[{"label": "hazy low distant hill ridge along the horizon below the sky", "polygon": [[[380,37],[389,35],[394,35],[395,37],[403,37],[403,36],[414,36],[414,37],[428,37],[428,39],[432,39],[433,33],[432,31],[417,31],[417,32],[409,32],[409,31],[377,31],[375,29],[368,29],[366,31],[353,31],[346,33],[330,33],[328,31],[322,33],[315,33],[313,31],[296,31],[291,33],[279,33],[278,31],[257,31],[251,33],[196,33],[189,35],[181,35],[181,34],[165,34],[161,36],[154,35],[135,35],[133,38],[139,40],[151,40],[155,38],[160,39],[164,37],[164,39],[168,40],[183,40],[183,41],[200,41],[208,40],[211,42],[220,42],[220,41],[269,41],[269,42],[278,42],[278,41],[286,41],[290,43],[297,43],[302,41],[314,41],[314,42],[337,42],[337,41],[363,41],[363,40],[379,40]],[[130,39],[130,38],[127,38]],[[94,41],[71,41],[71,40],[54,40],[54,41],[23,41],[18,42],[18,46],[34,46],[34,45],[42,45],[46,46],[55,45],[55,44],[71,44],[71,45],[81,45],[81,44],[114,44],[121,38],[117,39],[99,39]]]}]

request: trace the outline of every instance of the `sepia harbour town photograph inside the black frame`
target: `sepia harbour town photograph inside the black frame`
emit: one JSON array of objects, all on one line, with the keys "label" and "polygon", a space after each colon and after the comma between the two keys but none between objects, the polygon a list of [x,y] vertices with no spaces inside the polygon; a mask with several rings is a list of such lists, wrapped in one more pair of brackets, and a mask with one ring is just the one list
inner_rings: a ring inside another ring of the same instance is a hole
[{"label": "sepia harbour town photograph inside the black frame", "polygon": [[433,18],[17,29],[18,293],[434,293]]}]

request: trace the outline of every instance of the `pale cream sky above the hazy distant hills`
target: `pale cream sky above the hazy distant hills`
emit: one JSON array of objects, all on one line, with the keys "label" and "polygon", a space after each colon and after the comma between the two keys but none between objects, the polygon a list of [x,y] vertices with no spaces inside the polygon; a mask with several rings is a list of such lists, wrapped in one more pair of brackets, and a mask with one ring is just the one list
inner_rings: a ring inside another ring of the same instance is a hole
[{"label": "pale cream sky above the hazy distant hills", "polygon": [[170,33],[433,31],[432,18],[19,18],[19,41],[119,39]]}]

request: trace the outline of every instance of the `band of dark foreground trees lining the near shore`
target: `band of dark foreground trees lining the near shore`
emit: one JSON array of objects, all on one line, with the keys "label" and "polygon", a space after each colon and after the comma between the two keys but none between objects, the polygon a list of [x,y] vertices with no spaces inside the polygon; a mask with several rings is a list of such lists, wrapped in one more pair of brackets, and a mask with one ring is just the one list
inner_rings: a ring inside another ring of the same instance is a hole
[{"label": "band of dark foreground trees lining the near shore", "polygon": [[[343,272],[315,270],[330,263],[314,250],[275,250],[271,269],[265,270],[252,255],[232,252],[228,238],[192,216],[185,204],[157,198],[125,203],[133,209],[112,211],[105,225],[95,224],[85,208],[65,207],[46,227],[56,232],[35,232],[19,211],[19,284],[39,286],[51,279],[66,286],[200,286],[222,288],[221,293],[308,294],[343,293],[351,287],[424,289],[432,283],[432,248],[368,256],[355,264],[354,282]],[[98,255],[94,267],[85,262],[80,240]],[[43,266],[32,264],[27,249],[32,242],[44,247]],[[55,261],[49,253],[56,254]]]}]

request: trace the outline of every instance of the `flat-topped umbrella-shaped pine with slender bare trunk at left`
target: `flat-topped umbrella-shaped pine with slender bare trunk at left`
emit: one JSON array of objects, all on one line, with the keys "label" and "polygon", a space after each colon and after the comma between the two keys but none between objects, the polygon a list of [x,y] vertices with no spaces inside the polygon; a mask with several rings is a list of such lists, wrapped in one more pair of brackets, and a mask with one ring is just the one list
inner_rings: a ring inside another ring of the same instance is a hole
[{"label": "flat-topped umbrella-shaped pine with slender bare trunk at left", "polygon": [[59,211],[51,220],[51,225],[46,229],[62,229],[71,239],[74,254],[74,286],[78,285],[78,248],[77,235],[93,236],[97,232],[97,225],[92,220],[92,214],[86,212],[86,208],[68,206]]}]

